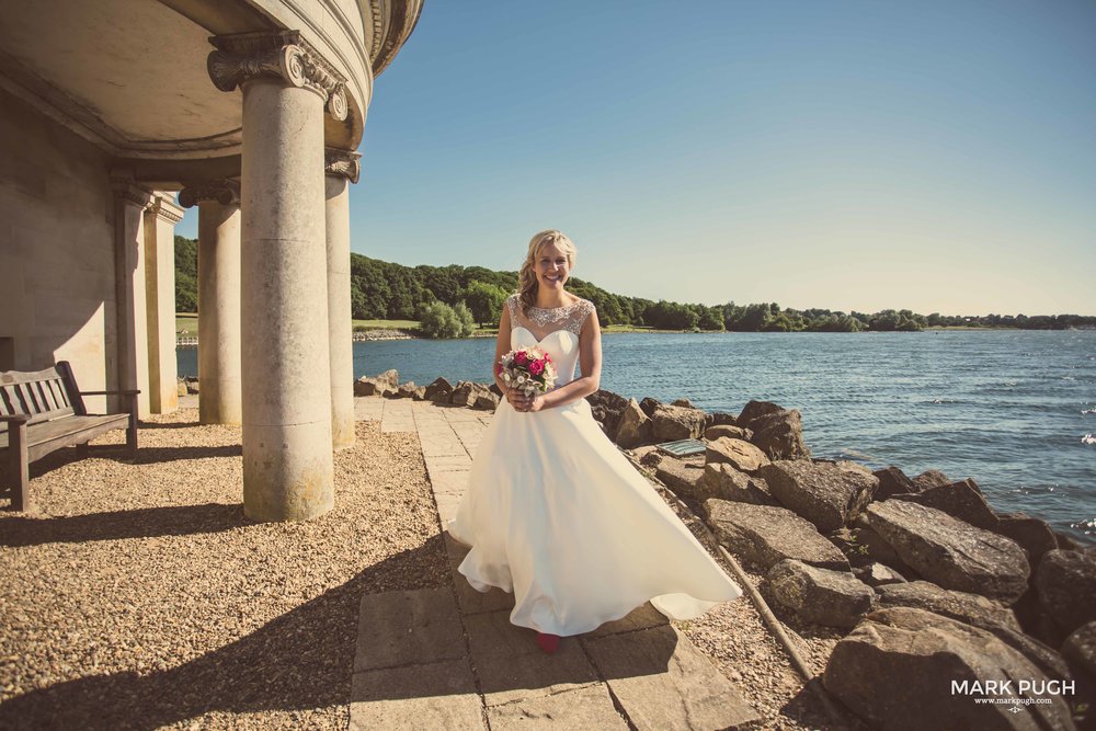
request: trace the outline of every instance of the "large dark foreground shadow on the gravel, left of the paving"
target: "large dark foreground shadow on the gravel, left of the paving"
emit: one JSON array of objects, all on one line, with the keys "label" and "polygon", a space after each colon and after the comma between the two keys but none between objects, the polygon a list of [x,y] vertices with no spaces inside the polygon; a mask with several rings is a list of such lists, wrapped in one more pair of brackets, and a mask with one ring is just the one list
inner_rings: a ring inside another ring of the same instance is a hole
[{"label": "large dark foreground shadow on the gravel, left of the paving", "polygon": [[[156,729],[215,710],[344,705],[351,695],[362,596],[423,589],[418,578],[430,576],[430,567],[444,560],[442,536],[435,536],[172,670],[92,675],[12,698],[0,706],[0,729]],[[332,677],[342,679],[331,683]]]}]

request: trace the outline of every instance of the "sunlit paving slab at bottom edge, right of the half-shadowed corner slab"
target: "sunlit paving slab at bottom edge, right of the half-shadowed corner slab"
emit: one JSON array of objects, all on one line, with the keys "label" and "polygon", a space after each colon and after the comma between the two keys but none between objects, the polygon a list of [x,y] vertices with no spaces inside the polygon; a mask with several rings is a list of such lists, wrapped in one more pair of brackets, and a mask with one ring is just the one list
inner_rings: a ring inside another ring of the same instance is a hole
[{"label": "sunlit paving slab at bottom edge, right of the half-shadowed corner slab", "polygon": [[487,709],[491,731],[562,731],[563,729],[627,729],[604,684],[550,696],[525,698]]}]

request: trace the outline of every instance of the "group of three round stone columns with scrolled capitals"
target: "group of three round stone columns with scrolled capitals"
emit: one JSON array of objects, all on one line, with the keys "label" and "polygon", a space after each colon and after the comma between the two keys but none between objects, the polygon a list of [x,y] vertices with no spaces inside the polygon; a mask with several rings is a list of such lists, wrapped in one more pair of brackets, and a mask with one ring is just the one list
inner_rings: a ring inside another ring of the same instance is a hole
[{"label": "group of three round stone columns with scrolled capitals", "polygon": [[358,163],[323,145],[324,110],[346,117],[345,83],[296,32],[213,44],[214,83],[242,90],[243,155],[238,198],[228,181],[180,194],[199,206],[202,421],[243,425],[249,517],[307,519],[332,506],[332,449],[354,443],[346,191]]}]

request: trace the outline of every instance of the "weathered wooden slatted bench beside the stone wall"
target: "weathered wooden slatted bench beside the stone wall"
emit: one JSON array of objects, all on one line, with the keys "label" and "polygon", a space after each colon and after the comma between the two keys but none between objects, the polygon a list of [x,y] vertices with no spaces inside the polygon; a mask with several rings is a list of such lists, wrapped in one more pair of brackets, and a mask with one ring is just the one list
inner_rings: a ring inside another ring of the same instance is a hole
[{"label": "weathered wooden slatted bench beside the stone wall", "polygon": [[[8,456],[4,480],[12,488],[11,506],[31,507],[30,464],[61,447],[88,455],[88,442],[115,429],[126,430],[126,452],[137,458],[137,395],[140,391],[81,391],[72,368],[61,361],[53,368],[0,373],[0,454]],[[90,414],[84,396],[121,396],[125,413]],[[5,448],[7,447],[7,448]]]}]

